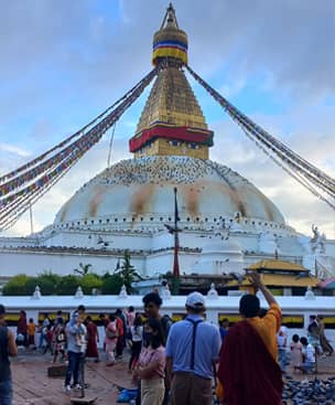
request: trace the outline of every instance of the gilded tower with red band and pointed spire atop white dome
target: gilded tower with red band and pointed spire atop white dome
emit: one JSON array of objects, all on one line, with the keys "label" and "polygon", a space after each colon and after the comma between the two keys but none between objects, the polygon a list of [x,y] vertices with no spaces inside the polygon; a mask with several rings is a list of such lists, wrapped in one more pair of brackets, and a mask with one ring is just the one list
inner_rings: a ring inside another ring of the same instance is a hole
[{"label": "gilded tower with red band and pointed spire atop white dome", "polygon": [[180,30],[175,11],[169,6],[161,29],[153,36],[152,63],[161,65],[130,151],[143,156],[188,156],[208,159],[213,131],[183,72],[187,64],[187,35]]}]

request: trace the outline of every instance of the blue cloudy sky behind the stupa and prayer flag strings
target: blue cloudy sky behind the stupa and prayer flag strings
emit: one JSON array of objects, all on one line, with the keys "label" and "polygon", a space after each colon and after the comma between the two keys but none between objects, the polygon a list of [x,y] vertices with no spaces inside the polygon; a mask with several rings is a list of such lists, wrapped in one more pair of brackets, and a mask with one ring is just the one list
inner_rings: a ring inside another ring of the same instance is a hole
[{"label": "blue cloudy sky behind the stupa and prayer flag strings", "polygon": [[[188,63],[207,83],[306,160],[335,177],[335,2],[174,0]],[[151,66],[162,0],[0,2],[0,175],[83,127]],[[335,238],[335,212],[260,151],[190,78],[208,127],[210,159],[238,171],[311,234]],[[147,90],[116,126],[111,159],[131,158]],[[110,131],[33,206],[34,231],[107,167]],[[30,233],[28,214],[2,235]]]}]

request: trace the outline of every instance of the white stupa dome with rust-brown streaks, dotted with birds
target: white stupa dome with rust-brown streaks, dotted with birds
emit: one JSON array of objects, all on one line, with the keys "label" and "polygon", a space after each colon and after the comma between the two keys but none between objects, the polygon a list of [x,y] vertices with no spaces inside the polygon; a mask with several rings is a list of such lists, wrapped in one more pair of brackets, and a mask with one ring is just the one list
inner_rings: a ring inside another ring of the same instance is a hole
[{"label": "white stupa dome with rust-brown streaks, dotted with birds", "polygon": [[173,216],[173,188],[183,222],[205,225],[239,212],[242,219],[284,224],[277,206],[231,169],[210,160],[155,156],[122,160],[96,175],[62,206],[54,225],[154,226]]}]

